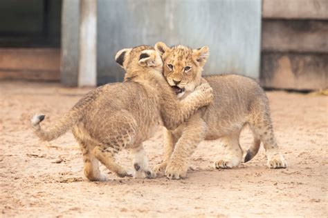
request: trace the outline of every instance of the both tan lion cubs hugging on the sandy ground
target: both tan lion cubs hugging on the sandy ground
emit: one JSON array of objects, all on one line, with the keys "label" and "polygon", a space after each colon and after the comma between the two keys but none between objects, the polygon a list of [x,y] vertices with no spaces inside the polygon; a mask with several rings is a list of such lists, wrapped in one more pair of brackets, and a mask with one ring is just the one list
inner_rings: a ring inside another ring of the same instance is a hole
[{"label": "both tan lion cubs hugging on the sandy ground", "polygon": [[[207,46],[168,48],[162,42],[155,49],[120,50],[116,62],[125,69],[123,83],[91,90],[48,130],[39,125],[44,115],[35,115],[33,130],[39,139],[51,141],[71,129],[82,149],[84,175],[91,181],[107,181],[99,161],[119,177],[153,178],[166,169],[170,179],[183,178],[188,158],[203,139],[224,138],[226,154],[215,168],[232,168],[242,161],[239,134],[246,124],[253,130],[254,144],[244,161],[256,155],[262,141],[268,166],[285,168],[262,88],[237,75],[201,78],[208,56]],[[163,163],[152,171],[142,143],[158,125],[167,128],[167,142]],[[134,172],[115,162],[122,148],[129,149]]]}]

